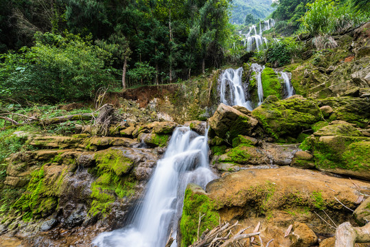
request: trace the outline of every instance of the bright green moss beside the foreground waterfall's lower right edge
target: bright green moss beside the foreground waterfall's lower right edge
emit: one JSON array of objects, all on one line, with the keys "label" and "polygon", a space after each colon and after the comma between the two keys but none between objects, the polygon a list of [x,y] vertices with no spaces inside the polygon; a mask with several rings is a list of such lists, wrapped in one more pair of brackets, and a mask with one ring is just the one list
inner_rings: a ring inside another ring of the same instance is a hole
[{"label": "bright green moss beside the foreground waterfall's lower right edge", "polygon": [[196,241],[199,214],[204,215],[200,223],[200,235],[206,229],[212,229],[218,225],[220,215],[214,210],[213,202],[205,195],[198,195],[191,189],[186,189],[180,222],[182,247],[189,246]]}]

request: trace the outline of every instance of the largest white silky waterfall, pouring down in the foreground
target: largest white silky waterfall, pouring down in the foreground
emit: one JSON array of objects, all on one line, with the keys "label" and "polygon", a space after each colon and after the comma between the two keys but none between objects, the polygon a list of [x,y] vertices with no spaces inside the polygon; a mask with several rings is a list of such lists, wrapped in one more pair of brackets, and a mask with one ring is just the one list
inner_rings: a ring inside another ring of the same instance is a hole
[{"label": "largest white silky waterfall, pouring down in the foreground", "polygon": [[[147,185],[143,202],[135,209],[130,226],[98,235],[99,247],[163,247],[176,238],[178,218],[188,183],[205,187],[216,178],[209,169],[207,132],[200,136],[189,127],[174,130],[167,150]],[[172,244],[176,247],[176,241]]]}]

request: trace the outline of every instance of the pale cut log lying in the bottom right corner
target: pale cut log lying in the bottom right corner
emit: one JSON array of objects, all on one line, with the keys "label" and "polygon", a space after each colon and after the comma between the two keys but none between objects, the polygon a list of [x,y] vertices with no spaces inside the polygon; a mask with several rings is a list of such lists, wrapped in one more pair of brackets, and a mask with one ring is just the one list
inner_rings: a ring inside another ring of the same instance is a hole
[{"label": "pale cut log lying in the bottom right corner", "polygon": [[335,247],[352,247],[355,243],[370,243],[370,223],[362,227],[353,227],[344,222],[336,228]]}]

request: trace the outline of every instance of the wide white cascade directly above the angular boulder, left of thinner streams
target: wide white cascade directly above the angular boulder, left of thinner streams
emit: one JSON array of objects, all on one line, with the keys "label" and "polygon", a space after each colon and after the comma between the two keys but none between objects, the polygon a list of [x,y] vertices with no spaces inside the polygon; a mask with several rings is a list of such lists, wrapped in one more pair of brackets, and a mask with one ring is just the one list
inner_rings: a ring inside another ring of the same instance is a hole
[{"label": "wide white cascade directly above the angular boulder, left of thinner streams", "polygon": [[247,101],[245,97],[242,86],[242,73],[242,67],[239,69],[226,69],[222,73],[220,85],[221,102],[229,106],[244,106],[248,110],[253,110],[251,102]]}]

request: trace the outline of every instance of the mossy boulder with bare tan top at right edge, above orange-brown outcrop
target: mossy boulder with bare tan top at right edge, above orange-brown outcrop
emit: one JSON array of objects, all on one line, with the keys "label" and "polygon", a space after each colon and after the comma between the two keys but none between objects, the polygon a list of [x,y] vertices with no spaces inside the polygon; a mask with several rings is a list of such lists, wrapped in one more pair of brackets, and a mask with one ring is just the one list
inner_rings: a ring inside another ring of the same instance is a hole
[{"label": "mossy boulder with bare tan top at right edge, above orange-brown outcrop", "polygon": [[304,143],[313,152],[316,168],[370,180],[370,138],[351,124],[325,126]]}]

